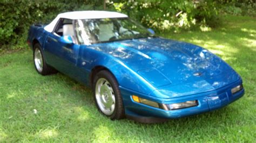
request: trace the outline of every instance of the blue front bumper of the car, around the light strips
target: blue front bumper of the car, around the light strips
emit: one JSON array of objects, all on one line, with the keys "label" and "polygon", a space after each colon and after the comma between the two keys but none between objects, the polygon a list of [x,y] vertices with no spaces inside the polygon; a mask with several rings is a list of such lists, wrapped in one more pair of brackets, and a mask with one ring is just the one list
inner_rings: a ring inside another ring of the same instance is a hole
[{"label": "blue front bumper of the car, around the light strips", "polygon": [[[148,117],[148,118],[171,119],[171,118],[180,118],[185,116],[197,115],[199,113],[223,108],[224,106],[236,101],[237,99],[242,97],[242,95],[244,95],[244,92],[245,92],[244,89],[238,91],[235,94],[231,93],[231,89],[239,84],[241,84],[241,81],[237,81],[226,87],[223,87],[214,91],[210,91],[210,92],[204,92],[202,94],[177,97],[177,98],[168,98],[168,99],[143,95],[139,92],[125,89],[123,87],[120,87],[120,90],[123,96],[125,114],[127,117],[132,117],[132,118]],[[173,103],[197,100],[198,106],[193,106],[185,109],[166,111],[163,109],[154,108],[149,105],[134,102],[131,95],[137,95],[137,96],[149,99],[150,101],[164,103],[164,104],[173,104]]]}]

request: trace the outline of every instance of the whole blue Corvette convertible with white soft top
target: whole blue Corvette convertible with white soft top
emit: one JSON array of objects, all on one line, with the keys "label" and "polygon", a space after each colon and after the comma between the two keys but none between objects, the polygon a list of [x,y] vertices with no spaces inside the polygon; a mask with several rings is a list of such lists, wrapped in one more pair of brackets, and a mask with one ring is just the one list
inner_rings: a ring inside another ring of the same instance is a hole
[{"label": "whole blue Corvette convertible with white soft top", "polygon": [[88,85],[110,119],[152,123],[223,108],[244,95],[241,77],[202,47],[154,35],[122,13],[60,13],[32,25],[37,72]]}]

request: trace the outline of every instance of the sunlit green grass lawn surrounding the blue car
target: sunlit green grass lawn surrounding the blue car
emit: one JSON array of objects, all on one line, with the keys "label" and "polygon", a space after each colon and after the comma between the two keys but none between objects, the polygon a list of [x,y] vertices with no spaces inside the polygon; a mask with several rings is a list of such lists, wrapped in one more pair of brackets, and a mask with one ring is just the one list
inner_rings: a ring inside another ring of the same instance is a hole
[{"label": "sunlit green grass lawn surrounding the blue car", "polygon": [[63,74],[41,76],[32,51],[0,55],[0,142],[232,142],[256,140],[256,18],[224,17],[208,31],[163,34],[209,49],[243,78],[246,94],[223,109],[160,124],[101,115],[91,89]]}]

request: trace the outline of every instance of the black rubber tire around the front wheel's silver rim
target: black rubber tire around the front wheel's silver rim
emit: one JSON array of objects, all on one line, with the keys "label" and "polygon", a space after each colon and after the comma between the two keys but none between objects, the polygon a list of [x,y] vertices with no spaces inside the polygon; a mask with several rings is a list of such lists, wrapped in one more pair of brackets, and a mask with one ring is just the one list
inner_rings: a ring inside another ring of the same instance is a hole
[{"label": "black rubber tire around the front wheel's silver rim", "polygon": [[[96,83],[100,78],[105,78],[110,84],[114,92],[114,98],[115,98],[115,103],[114,103],[114,111],[111,115],[106,115],[102,110],[100,110],[99,105],[97,103],[96,99]],[[123,98],[121,95],[121,92],[119,90],[118,82],[116,78],[107,70],[101,70],[99,71],[95,78],[93,79],[93,95],[95,98],[95,104],[97,106],[97,109],[103,113],[103,115],[109,117],[112,120],[118,120],[118,119],[123,119],[125,117],[125,112],[124,112],[124,106],[123,106]]]}]

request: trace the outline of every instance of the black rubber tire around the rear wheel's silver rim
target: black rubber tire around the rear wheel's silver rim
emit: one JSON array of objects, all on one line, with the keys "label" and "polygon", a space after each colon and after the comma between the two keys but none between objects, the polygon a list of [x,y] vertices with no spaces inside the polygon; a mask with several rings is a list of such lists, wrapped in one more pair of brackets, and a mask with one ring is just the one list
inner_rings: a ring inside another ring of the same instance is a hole
[{"label": "black rubber tire around the rear wheel's silver rim", "polygon": [[[36,60],[35,60],[35,51],[37,51],[37,49],[40,51],[40,54],[42,56],[42,70],[39,70],[36,66]],[[34,62],[34,66],[36,68],[37,73],[41,74],[41,75],[50,75],[50,74],[56,74],[58,71],[54,68],[52,68],[51,66],[49,66],[46,62],[45,62],[45,58],[44,58],[44,54],[41,48],[41,45],[39,43],[36,43],[33,46],[33,62]]]}]

